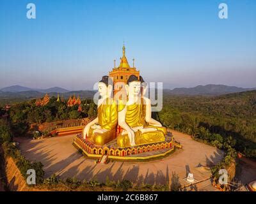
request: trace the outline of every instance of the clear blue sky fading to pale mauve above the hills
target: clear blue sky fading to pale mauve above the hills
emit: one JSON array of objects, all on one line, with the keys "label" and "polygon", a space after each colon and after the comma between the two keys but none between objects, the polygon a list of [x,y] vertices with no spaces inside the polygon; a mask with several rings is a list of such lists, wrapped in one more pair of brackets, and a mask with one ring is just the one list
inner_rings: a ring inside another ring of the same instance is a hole
[{"label": "clear blue sky fading to pale mauve above the hills", "polygon": [[118,64],[123,41],[147,82],[256,87],[255,0],[1,0],[0,88],[92,89]]}]

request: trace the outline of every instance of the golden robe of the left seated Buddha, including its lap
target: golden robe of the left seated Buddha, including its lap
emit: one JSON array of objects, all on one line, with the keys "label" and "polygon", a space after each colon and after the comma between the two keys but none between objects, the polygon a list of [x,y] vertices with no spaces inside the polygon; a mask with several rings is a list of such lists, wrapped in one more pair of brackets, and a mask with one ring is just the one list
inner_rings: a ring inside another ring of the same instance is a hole
[{"label": "golden robe of the left seated Buddha, including its lap", "polygon": [[116,102],[107,98],[98,107],[98,125],[102,129],[107,129],[104,133],[97,133],[92,127],[89,130],[88,140],[95,145],[104,145],[116,137],[117,124],[117,105]]}]

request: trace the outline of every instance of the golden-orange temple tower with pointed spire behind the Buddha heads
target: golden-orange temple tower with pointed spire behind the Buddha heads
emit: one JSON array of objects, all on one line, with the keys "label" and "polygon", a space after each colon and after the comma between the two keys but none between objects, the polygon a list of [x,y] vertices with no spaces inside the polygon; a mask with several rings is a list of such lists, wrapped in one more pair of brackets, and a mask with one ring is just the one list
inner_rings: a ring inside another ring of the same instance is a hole
[{"label": "golden-orange temple tower with pointed spire behind the Buddha heads", "polygon": [[[134,59],[132,59],[133,64],[132,68],[129,65],[127,58],[125,56],[125,46],[123,46],[123,57],[120,58],[120,65],[116,67],[116,61],[114,61],[114,68],[112,71],[109,71],[109,77],[113,78],[114,83],[114,95],[116,92],[122,89],[122,85],[126,84],[128,78],[131,75],[135,75],[136,77],[140,77],[140,71],[137,71],[134,66]],[[121,82],[121,83],[118,83]]]}]

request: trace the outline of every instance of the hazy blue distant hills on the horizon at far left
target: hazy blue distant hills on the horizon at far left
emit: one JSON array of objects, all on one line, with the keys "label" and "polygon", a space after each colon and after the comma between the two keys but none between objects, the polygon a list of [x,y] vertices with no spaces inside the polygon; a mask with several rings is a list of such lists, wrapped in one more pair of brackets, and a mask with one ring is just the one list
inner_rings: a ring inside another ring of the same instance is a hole
[{"label": "hazy blue distant hills on the horizon at far left", "polygon": [[12,85],[10,87],[4,87],[3,89],[0,89],[0,91],[3,91],[3,92],[38,91],[38,92],[43,92],[43,93],[49,93],[49,92],[64,93],[64,92],[68,92],[67,89],[63,89],[61,87],[52,87],[52,88],[49,88],[49,89],[31,89],[29,87],[22,87],[20,85]]}]

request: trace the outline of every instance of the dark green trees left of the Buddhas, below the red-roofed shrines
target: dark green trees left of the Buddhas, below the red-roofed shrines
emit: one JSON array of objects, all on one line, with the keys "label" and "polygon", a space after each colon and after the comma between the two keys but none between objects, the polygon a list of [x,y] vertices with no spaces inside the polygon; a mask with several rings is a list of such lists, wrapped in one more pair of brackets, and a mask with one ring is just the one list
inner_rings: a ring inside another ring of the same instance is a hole
[{"label": "dark green trees left of the Buddhas, below the red-roofed shrines", "polygon": [[15,103],[7,111],[8,117],[3,117],[6,111],[2,108],[0,110],[0,142],[1,140],[2,142],[10,141],[13,136],[26,135],[31,124],[92,118],[97,115],[97,105],[92,99],[82,100],[81,107],[82,111],[79,112],[78,105],[67,106],[67,101],[57,101],[56,97],[52,96],[49,103],[44,106],[36,106],[35,99]]}]

